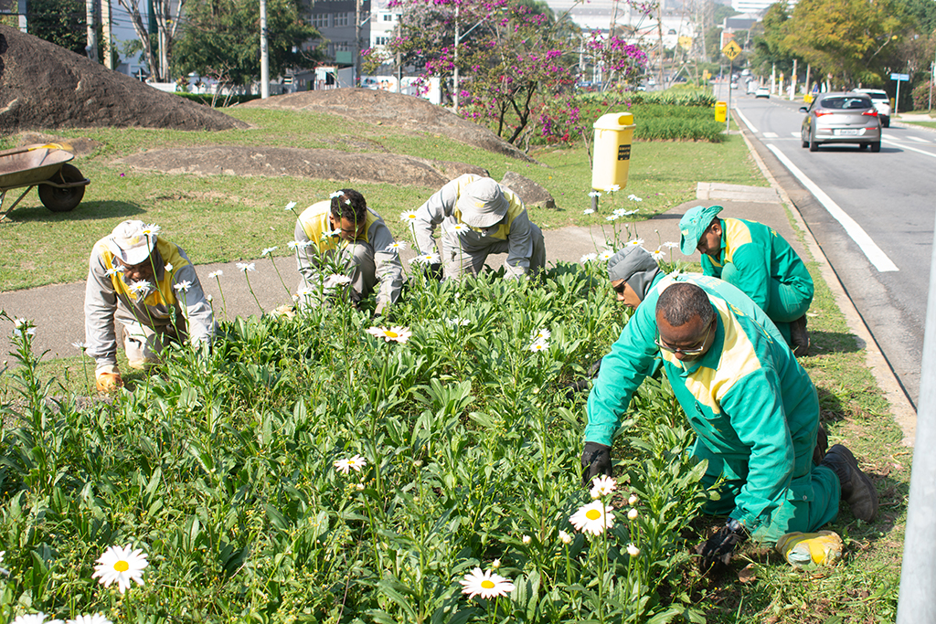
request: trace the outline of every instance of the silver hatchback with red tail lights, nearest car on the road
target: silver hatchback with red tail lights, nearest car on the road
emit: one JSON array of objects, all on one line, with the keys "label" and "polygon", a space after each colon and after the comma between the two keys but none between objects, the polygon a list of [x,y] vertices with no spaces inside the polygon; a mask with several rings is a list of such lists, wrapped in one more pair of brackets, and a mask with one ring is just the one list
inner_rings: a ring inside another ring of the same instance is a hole
[{"label": "silver hatchback with red tail lights, nearest car on the road", "polygon": [[803,147],[817,152],[822,143],[855,143],[858,149],[870,146],[871,152],[881,151],[881,120],[867,94],[818,94],[799,126]]}]

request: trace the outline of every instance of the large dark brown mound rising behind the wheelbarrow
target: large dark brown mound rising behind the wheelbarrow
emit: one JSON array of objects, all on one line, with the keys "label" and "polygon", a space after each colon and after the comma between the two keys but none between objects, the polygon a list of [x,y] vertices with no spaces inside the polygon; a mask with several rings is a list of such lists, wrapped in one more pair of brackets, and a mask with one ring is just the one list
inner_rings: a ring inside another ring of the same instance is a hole
[{"label": "large dark brown mound rising behind the wheelbarrow", "polygon": [[95,126],[228,130],[248,124],[0,25],[0,132]]}]

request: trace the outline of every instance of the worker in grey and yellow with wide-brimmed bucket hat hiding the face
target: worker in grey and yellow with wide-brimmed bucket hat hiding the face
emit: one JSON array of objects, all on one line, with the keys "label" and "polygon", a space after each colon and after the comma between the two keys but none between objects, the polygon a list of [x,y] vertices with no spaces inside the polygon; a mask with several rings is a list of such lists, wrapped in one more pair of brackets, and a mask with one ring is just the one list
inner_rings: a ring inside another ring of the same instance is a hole
[{"label": "worker in grey and yellow with wide-brimmed bucket hat hiding the face", "polygon": [[519,196],[490,178],[466,173],[416,210],[413,228],[420,253],[432,253],[436,225],[442,225],[446,277],[476,275],[490,254],[507,254],[508,278],[546,265],[543,232],[531,223]]}]

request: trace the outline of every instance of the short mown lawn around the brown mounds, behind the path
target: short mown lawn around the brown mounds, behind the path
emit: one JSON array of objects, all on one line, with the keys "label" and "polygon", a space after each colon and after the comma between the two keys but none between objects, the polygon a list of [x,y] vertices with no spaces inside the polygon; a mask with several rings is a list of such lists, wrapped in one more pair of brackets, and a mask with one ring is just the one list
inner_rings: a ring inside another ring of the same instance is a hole
[{"label": "short mown lawn around the brown mounds, behind the path", "polygon": [[[305,207],[344,185],[296,178],[168,175],[134,171],[114,162],[148,149],[215,144],[299,146],[461,161],[487,168],[497,180],[512,170],[547,188],[558,209],[531,210],[535,223],[547,228],[587,224],[582,211],[590,206],[592,178],[584,149],[534,152],[544,165],[540,166],[449,138],[404,133],[386,125],[349,124],[332,115],[264,109],[231,109],[230,113],[256,127],[220,133],[137,128],[62,132],[65,138],[88,137],[101,144],[90,156],[76,160],[91,185],[80,206],[66,213],[46,210],[33,191],[11,213],[12,222],[0,224],[4,239],[0,291],[80,281],[95,240],[124,219],[160,225],[196,264],[256,258],[263,248],[274,245],[285,253],[294,219],[283,210],[285,204],[297,201],[300,208]],[[637,142],[626,189],[618,196],[602,198],[602,207],[609,206],[608,201],[623,206],[628,203],[626,195],[634,194],[644,199],[639,204],[641,214],[650,217],[692,199],[696,180],[765,184],[739,137],[717,144]],[[396,235],[404,233],[397,215],[417,208],[437,190],[393,184],[355,186]]]}]

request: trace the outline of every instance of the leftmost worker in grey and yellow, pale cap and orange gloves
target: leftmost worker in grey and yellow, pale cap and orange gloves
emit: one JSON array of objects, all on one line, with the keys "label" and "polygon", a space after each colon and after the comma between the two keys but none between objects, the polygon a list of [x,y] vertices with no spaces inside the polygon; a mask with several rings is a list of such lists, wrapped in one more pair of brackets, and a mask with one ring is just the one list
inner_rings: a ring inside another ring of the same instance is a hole
[{"label": "leftmost worker in grey and yellow, pale cap and orange gloves", "polygon": [[130,368],[159,361],[167,341],[208,342],[212,306],[182,248],[158,236],[157,225],[124,221],[91,252],[84,291],[86,353],[97,363],[97,389],[123,385],[117,368],[117,324]]}]

